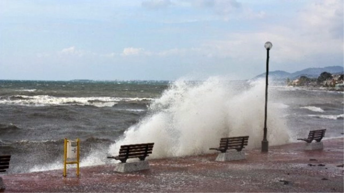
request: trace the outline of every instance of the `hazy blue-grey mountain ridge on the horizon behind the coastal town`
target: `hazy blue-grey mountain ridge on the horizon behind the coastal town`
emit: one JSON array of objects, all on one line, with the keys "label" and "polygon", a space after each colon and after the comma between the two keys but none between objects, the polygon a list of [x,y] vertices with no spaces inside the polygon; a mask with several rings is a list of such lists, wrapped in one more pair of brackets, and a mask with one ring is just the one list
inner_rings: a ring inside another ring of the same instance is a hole
[{"label": "hazy blue-grey mountain ridge on the horizon behind the coastal town", "polygon": [[[276,70],[276,71],[269,71],[269,77],[274,80],[284,80],[286,78],[289,79],[297,79],[300,76],[307,76],[309,78],[318,78],[322,72],[329,72],[329,73],[344,73],[344,67],[342,66],[327,66],[324,68],[306,68],[300,71],[296,71],[293,73],[289,73],[286,71]],[[263,78],[265,77],[266,73],[262,73],[253,79]]]}]

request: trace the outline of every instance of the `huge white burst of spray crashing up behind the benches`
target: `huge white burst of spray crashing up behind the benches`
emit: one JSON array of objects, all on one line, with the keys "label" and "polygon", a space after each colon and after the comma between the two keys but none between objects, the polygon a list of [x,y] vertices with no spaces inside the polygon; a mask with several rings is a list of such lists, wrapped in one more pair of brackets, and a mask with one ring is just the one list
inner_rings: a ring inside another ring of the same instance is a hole
[{"label": "huge white burst of spray crashing up behind the benches", "polygon": [[[112,144],[117,155],[121,145],[154,142],[151,158],[198,155],[217,147],[221,137],[249,135],[248,149],[261,145],[264,127],[265,82],[256,81],[246,91],[211,77],[204,82],[178,80],[150,105],[150,113],[129,127]],[[271,95],[271,91],[269,95]],[[269,145],[289,140],[283,109],[268,105]]]}]

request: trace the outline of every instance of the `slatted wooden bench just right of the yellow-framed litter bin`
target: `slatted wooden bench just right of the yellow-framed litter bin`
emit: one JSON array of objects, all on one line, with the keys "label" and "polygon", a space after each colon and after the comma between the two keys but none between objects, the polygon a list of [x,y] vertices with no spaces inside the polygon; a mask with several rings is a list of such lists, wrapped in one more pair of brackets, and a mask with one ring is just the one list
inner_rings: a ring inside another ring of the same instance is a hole
[{"label": "slatted wooden bench just right of the yellow-framed litter bin", "polygon": [[132,144],[132,145],[122,145],[119,149],[118,156],[107,157],[120,160],[125,163],[128,158],[139,158],[143,161],[148,154],[152,154],[154,143],[147,144]]}]

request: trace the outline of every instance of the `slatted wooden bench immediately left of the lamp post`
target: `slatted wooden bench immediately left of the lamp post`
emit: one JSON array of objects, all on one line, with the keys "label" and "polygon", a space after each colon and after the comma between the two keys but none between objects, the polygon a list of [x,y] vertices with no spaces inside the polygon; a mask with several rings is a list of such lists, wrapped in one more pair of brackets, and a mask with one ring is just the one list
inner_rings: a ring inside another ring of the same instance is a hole
[{"label": "slatted wooden bench immediately left of the lamp post", "polygon": [[239,137],[224,137],[220,139],[220,147],[209,148],[225,153],[228,149],[236,149],[237,151],[243,150],[248,143],[248,136]]}]

